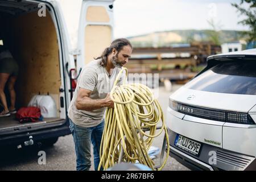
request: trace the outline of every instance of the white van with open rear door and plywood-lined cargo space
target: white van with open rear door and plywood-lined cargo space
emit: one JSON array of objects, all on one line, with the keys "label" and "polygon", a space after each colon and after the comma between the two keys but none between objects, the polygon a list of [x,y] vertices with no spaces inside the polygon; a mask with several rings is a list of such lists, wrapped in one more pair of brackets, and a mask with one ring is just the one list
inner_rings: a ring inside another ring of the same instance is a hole
[{"label": "white van with open rear door and plywood-lined cargo space", "polygon": [[34,123],[19,123],[15,114],[0,118],[0,146],[53,144],[70,133],[67,110],[74,89],[71,71],[79,71],[109,46],[112,17],[112,0],[82,1],[75,65],[59,2],[0,0],[0,39],[19,65],[16,109],[27,107],[39,94],[50,96],[56,107],[56,117]]}]

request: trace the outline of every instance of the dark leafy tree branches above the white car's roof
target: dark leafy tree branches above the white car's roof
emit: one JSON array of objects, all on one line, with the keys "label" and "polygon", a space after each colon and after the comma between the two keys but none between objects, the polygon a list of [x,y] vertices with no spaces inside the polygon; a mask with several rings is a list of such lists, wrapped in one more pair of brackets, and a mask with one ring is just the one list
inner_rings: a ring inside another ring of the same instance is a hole
[{"label": "dark leafy tree branches above the white car's roof", "polygon": [[[250,8],[245,9],[242,7],[242,4],[246,2],[249,4]],[[248,42],[255,42],[256,41],[256,0],[241,0],[240,5],[237,3],[232,3],[232,6],[236,7],[237,11],[240,11],[241,15],[245,15],[246,19],[241,20],[240,24],[249,26],[250,31],[243,31],[243,35],[247,35]],[[255,47],[254,43],[254,47]]]}]

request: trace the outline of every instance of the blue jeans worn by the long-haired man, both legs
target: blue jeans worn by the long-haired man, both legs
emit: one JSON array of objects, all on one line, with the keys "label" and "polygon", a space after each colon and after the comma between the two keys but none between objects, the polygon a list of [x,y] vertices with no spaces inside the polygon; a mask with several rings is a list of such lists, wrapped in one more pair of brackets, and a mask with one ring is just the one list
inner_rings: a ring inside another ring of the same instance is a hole
[{"label": "blue jeans worn by the long-haired man, both legs", "polygon": [[98,164],[100,163],[100,146],[101,137],[104,130],[104,119],[102,119],[102,122],[99,125],[94,127],[77,126],[72,122],[71,119],[69,119],[69,123],[69,129],[71,130],[75,142],[77,171],[89,171],[90,169],[91,142],[93,144],[94,169],[97,171]]}]

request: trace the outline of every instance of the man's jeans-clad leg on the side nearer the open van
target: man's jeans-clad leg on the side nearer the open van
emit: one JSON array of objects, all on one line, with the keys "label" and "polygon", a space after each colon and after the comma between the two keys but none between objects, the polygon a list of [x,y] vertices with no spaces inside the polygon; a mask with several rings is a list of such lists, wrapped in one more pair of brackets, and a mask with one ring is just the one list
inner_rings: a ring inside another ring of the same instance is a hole
[{"label": "man's jeans-clad leg on the side nearer the open van", "polygon": [[75,142],[76,151],[76,169],[77,171],[89,171],[90,162],[90,135],[92,130],[90,128],[83,128],[76,126],[71,119],[69,119],[73,139]]}]

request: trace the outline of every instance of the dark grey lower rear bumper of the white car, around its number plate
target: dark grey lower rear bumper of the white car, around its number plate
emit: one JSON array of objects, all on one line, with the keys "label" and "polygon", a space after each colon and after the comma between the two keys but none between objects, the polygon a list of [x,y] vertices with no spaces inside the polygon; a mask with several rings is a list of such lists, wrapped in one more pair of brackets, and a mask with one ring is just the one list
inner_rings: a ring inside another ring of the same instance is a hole
[{"label": "dark grey lower rear bumper of the white car, around its number plate", "polygon": [[[195,156],[183,149],[175,146],[177,133],[169,130],[170,156],[179,163],[192,170],[256,170],[256,160],[254,156],[238,154],[237,152],[223,150],[220,147],[201,143],[201,152]],[[198,141],[197,141],[198,142]]]}]

